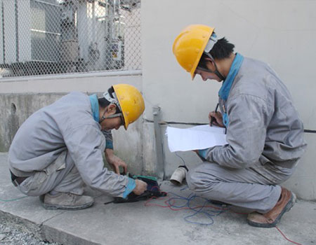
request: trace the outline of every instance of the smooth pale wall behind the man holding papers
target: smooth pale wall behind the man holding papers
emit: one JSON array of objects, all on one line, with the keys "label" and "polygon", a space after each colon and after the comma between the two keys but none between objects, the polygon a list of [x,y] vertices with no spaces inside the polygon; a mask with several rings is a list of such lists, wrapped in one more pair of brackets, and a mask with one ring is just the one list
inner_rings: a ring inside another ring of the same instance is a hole
[{"label": "smooth pale wall behind the man holding papers", "polygon": [[[316,130],[315,9],[316,1],[305,0],[143,1],[145,120],[153,120],[152,106],[160,106],[164,121],[208,123],[220,84],[212,80],[205,83],[201,78],[191,82],[190,74],[178,65],[172,53],[173,40],[185,26],[204,24],[216,27],[218,37],[228,38],[236,52],[268,62],[293,95],[305,129]],[[144,141],[150,142],[144,146],[146,163],[154,158],[152,132],[152,127],[144,127]],[[305,138],[307,153],[296,175],[285,184],[299,197],[316,200],[316,134],[306,134]],[[166,144],[164,151],[166,176],[170,176],[182,160],[170,153]],[[189,165],[199,162],[194,154],[181,154]]]}]

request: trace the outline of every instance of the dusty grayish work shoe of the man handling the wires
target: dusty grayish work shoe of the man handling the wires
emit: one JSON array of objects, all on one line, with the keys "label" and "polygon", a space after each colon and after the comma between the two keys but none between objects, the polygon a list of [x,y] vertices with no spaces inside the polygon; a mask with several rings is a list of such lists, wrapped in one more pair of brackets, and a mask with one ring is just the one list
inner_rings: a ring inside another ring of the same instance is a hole
[{"label": "dusty grayish work shoe of the man handling the wires", "polygon": [[75,195],[72,193],[46,194],[44,197],[45,209],[79,210],[93,205],[93,197]]}]

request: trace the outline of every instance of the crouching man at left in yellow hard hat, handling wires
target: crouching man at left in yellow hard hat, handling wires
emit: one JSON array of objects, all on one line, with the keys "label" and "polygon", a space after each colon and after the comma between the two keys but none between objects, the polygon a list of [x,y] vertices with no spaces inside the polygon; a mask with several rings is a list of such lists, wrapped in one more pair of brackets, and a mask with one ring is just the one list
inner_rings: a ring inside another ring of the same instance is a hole
[{"label": "crouching man at left in yellow hard hat, handling wires", "polygon": [[[119,166],[126,170],[126,164],[111,147],[107,155],[105,146],[112,141],[106,144],[102,130],[122,125],[127,130],[144,109],[140,92],[126,84],[113,85],[99,99],[71,92],[45,106],[15,134],[8,153],[13,184],[25,195],[40,196],[46,209],[91,207],[84,183],[114,197],[142,194],[147,184],[119,175]],[[104,167],[103,151],[116,173]]]}]

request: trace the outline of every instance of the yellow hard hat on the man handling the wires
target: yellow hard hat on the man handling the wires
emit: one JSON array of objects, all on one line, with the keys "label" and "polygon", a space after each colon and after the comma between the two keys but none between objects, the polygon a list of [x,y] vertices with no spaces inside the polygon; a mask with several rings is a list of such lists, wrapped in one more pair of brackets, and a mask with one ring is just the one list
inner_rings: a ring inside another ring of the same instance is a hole
[{"label": "yellow hard hat on the man handling the wires", "polygon": [[129,124],[136,121],[145,110],[143,96],[136,87],[129,84],[113,85],[113,89],[121,106],[124,127],[127,130]]}]

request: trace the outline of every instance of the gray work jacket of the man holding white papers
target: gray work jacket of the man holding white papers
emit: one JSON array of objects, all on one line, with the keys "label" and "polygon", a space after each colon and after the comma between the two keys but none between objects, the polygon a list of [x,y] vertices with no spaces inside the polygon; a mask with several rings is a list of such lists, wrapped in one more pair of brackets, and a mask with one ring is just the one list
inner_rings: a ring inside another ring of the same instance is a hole
[{"label": "gray work jacket of the man holding white papers", "polygon": [[303,155],[303,123],[289,90],[268,64],[244,58],[227,101],[219,104],[228,113],[228,145],[210,148],[206,160],[237,169],[258,161],[291,168]]}]

